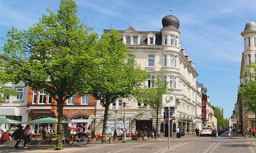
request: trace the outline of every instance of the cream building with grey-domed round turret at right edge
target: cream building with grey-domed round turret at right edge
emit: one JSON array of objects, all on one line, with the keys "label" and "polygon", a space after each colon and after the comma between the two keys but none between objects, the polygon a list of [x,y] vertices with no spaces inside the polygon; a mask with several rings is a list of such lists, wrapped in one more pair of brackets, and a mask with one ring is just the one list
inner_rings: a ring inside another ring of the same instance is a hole
[{"label": "cream building with grey-domed round turret at right edge", "polygon": [[[248,21],[245,24],[244,31],[241,32],[241,35],[244,37],[244,52],[242,53],[240,81],[244,82],[244,78],[242,76],[244,74],[244,68],[253,72],[253,69],[248,68],[246,65],[251,62],[256,62],[256,23],[252,20]],[[238,104],[240,103],[241,102],[238,101]],[[254,113],[246,113],[242,107],[240,107],[240,111],[238,111],[238,113],[240,113],[239,123],[241,123],[243,131],[249,126],[256,126]]]}]

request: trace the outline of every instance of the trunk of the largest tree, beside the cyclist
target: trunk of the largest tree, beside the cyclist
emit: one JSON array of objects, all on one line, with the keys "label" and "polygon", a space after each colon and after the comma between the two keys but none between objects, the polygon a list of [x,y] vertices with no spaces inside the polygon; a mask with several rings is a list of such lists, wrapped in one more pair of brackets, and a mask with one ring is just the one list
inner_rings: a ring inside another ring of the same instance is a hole
[{"label": "trunk of the largest tree, beside the cyclist", "polygon": [[57,107],[58,107],[58,123],[57,123],[57,144],[55,147],[55,150],[61,150],[63,149],[63,143],[62,143],[62,135],[63,135],[63,126],[62,126],[62,118],[63,118],[63,106],[64,101],[63,98],[59,98],[60,100],[57,101]]}]

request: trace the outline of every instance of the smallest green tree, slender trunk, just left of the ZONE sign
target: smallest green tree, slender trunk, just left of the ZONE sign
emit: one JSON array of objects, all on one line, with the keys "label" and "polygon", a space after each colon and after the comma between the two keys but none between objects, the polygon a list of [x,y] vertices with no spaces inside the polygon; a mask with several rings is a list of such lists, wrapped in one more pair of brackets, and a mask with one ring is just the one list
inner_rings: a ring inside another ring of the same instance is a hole
[{"label": "smallest green tree, slender trunk, just left of the ZONE sign", "polygon": [[156,136],[158,137],[158,114],[159,109],[162,107],[162,94],[171,93],[172,89],[167,88],[168,82],[163,79],[162,75],[157,74],[154,76],[152,81],[154,86],[152,88],[144,87],[142,90],[138,91],[136,95],[137,101],[139,103],[144,103],[149,105],[157,113],[157,125],[156,125]]}]

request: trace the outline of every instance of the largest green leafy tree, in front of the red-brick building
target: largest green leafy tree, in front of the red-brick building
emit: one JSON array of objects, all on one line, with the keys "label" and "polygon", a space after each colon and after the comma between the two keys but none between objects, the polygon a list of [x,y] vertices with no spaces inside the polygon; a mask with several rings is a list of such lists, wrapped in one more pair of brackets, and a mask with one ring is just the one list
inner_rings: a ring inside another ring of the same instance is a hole
[{"label": "largest green leafy tree, in front of the red-brick building", "polygon": [[[60,9],[42,15],[29,30],[8,31],[1,48],[3,70],[15,76],[13,82],[25,82],[33,90],[45,91],[57,102],[57,144],[63,149],[62,118],[65,101],[86,93],[88,73],[94,66],[97,34],[82,24],[74,0],[61,0]],[[49,78],[46,80],[46,78]]]}]

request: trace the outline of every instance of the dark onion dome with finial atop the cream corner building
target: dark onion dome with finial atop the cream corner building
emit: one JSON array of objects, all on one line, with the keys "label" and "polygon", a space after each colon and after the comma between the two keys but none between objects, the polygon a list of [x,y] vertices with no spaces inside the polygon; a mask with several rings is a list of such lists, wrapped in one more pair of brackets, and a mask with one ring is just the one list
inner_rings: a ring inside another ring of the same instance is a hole
[{"label": "dark onion dome with finial atop the cream corner building", "polygon": [[170,15],[166,15],[162,19],[162,25],[163,28],[168,27],[168,28],[174,28],[174,29],[179,29],[180,27],[180,21],[177,19],[177,17],[172,15],[172,10]]}]

